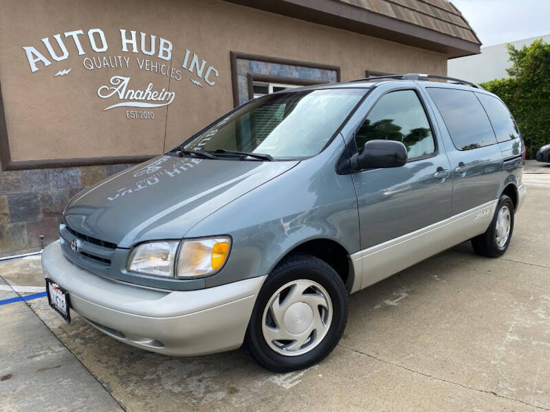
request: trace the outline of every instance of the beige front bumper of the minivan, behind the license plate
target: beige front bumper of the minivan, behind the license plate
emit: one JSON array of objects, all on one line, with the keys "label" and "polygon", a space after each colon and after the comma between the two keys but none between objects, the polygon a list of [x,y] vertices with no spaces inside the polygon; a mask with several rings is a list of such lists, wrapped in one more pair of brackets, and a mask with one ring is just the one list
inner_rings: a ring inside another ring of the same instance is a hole
[{"label": "beige front bumper of the minivan, behind the license plate", "polygon": [[243,343],[265,277],[214,288],[170,291],[115,282],[76,266],[59,241],[42,253],[45,277],[67,290],[71,309],[118,341],[174,356],[210,354]]}]

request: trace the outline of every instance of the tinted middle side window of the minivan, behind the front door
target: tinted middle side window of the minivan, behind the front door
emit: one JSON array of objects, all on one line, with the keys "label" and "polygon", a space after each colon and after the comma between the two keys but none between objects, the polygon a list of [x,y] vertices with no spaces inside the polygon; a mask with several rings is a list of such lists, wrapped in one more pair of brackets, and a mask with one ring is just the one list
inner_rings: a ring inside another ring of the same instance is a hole
[{"label": "tinted middle side window of the minivan, behind the front door", "polygon": [[471,150],[496,144],[496,137],[483,106],[472,91],[427,87],[454,147]]}]

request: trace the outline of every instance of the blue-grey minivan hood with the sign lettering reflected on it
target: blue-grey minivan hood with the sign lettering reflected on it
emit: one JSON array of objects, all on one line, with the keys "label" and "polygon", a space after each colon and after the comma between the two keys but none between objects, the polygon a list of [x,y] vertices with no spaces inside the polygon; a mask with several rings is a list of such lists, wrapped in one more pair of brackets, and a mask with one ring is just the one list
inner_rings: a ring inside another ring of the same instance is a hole
[{"label": "blue-grey minivan hood with the sign lettering reflected on it", "polygon": [[[122,248],[182,238],[206,216],[298,163],[161,156],[76,194],[63,216],[74,231]],[[223,233],[205,236],[210,234]]]}]

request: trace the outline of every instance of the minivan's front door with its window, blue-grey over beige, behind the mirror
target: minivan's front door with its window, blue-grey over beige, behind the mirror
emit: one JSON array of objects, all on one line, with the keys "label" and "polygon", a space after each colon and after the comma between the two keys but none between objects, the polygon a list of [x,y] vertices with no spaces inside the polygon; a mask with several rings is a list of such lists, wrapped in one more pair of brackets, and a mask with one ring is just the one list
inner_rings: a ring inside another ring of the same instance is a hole
[{"label": "minivan's front door with its window, blue-grey over beige, behind the mirror", "polygon": [[352,258],[362,260],[362,288],[437,253],[452,205],[450,163],[416,84],[385,84],[373,93],[350,151],[373,139],[396,140],[406,146],[408,161],[352,174],[362,249]]}]

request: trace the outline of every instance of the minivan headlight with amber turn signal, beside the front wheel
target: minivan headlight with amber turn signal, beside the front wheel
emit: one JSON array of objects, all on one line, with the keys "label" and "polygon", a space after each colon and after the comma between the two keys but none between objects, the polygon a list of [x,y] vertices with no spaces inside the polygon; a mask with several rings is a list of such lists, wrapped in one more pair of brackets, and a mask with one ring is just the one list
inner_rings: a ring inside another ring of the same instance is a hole
[{"label": "minivan headlight with amber turn signal, beside the front wheel", "polygon": [[193,279],[213,275],[228,259],[231,238],[148,242],[135,247],[128,270],[160,277]]}]

